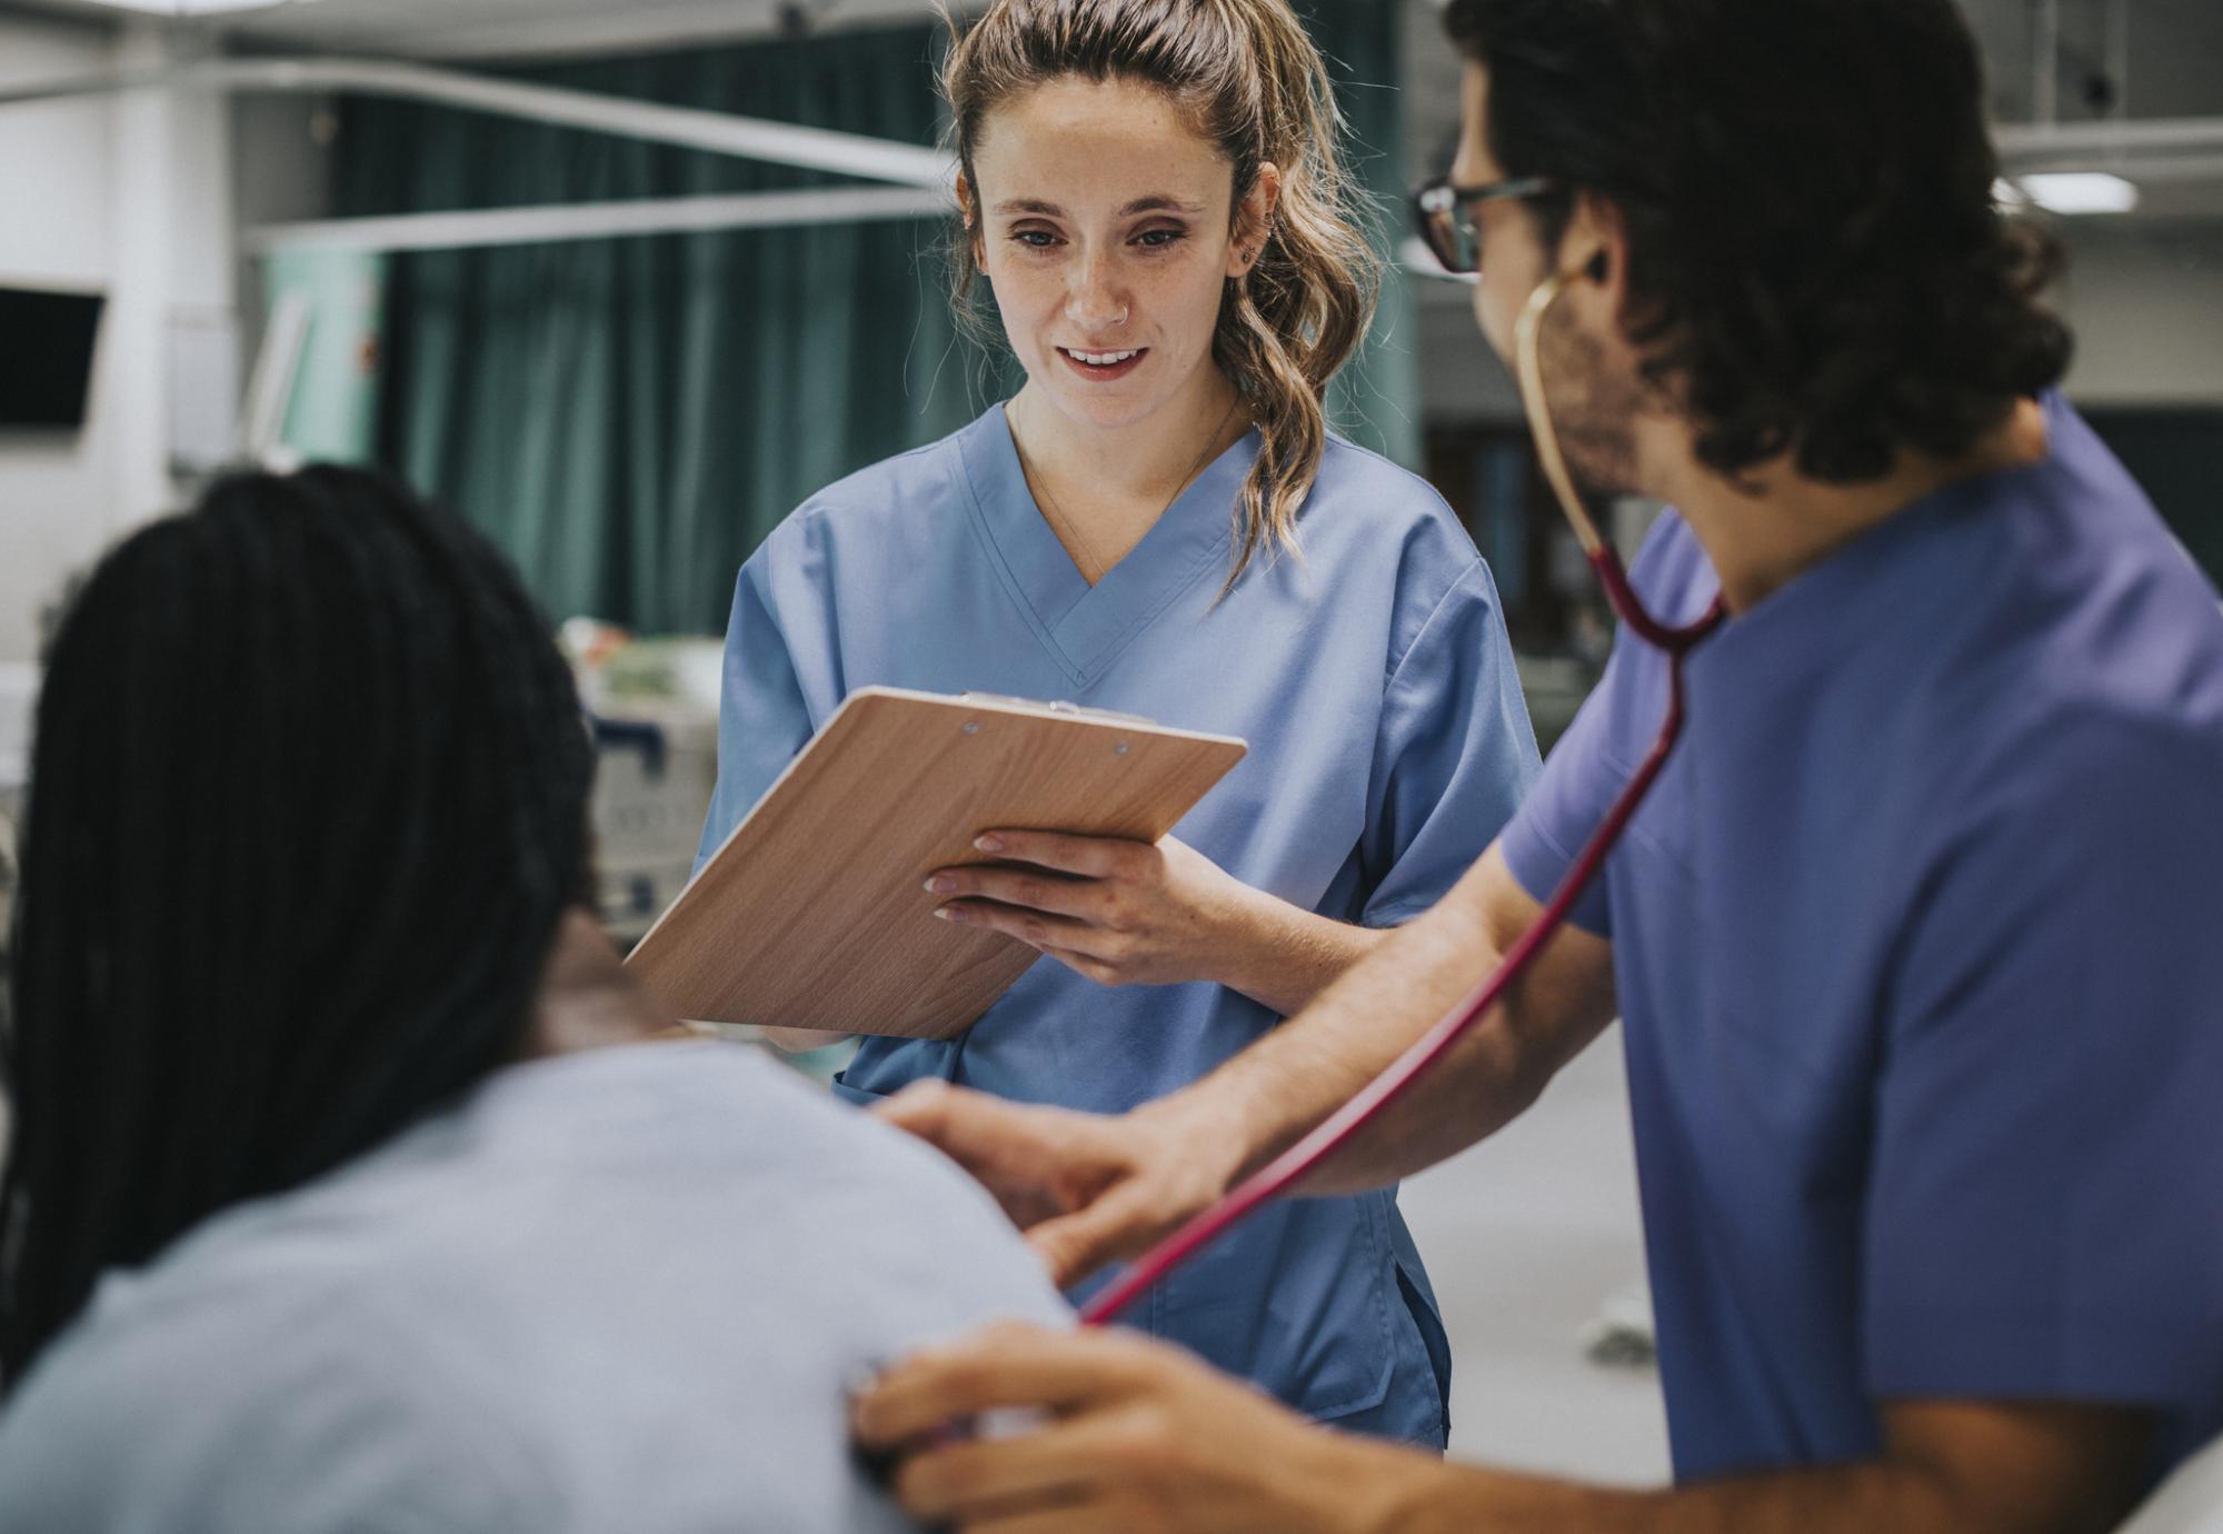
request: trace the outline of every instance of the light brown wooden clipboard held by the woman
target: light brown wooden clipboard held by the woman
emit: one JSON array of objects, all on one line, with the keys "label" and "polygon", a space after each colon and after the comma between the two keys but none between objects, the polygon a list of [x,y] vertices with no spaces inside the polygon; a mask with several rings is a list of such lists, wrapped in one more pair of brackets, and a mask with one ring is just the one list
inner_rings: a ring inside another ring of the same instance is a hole
[{"label": "light brown wooden clipboard held by the woman", "polygon": [[1232,736],[1069,703],[860,687],[625,965],[682,1018],[956,1038],[1040,954],[934,920],[936,869],[1040,829],[1154,843],[1243,760]]}]

